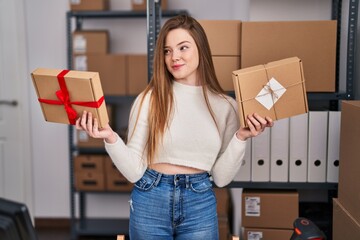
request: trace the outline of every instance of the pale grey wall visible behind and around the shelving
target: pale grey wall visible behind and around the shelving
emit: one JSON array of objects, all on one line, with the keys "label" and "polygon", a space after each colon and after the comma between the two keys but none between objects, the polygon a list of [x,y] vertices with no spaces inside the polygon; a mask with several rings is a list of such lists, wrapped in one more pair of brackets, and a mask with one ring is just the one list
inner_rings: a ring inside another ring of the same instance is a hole
[{"label": "pale grey wall visible behind and around the shelving", "polygon": [[[29,72],[37,67],[67,68],[65,13],[69,9],[68,1],[31,0],[25,4]],[[130,0],[112,0],[111,6],[114,10],[129,10]],[[187,9],[199,19],[323,20],[331,16],[331,0],[168,0],[168,6]],[[92,20],[84,25],[85,28],[104,26],[111,31],[111,52],[146,52],[145,19]],[[70,215],[68,128],[44,122],[36,94],[33,89],[29,91],[35,217],[67,218]],[[233,192],[240,197],[240,189]],[[127,201],[126,194],[93,195],[89,198],[88,215],[127,217]],[[239,202],[235,211],[240,211]]]}]

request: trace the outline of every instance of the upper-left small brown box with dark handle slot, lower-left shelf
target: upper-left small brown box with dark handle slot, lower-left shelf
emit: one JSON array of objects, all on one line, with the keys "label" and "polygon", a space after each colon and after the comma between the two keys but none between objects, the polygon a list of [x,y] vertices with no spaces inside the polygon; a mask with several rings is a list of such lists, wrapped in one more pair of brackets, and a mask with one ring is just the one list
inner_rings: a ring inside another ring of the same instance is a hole
[{"label": "upper-left small brown box with dark handle slot, lower-left shelf", "polygon": [[75,172],[104,172],[104,156],[102,155],[78,155],[74,157]]}]

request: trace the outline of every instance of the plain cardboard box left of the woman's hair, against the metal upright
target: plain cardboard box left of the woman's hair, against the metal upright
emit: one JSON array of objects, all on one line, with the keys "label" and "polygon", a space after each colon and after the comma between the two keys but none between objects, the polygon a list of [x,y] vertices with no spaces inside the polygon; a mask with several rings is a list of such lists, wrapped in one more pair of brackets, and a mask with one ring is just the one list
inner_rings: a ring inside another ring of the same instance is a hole
[{"label": "plain cardboard box left of the woman's hair, against the metal upright", "polygon": [[129,54],[127,94],[138,95],[148,84],[148,62],[145,54]]}]

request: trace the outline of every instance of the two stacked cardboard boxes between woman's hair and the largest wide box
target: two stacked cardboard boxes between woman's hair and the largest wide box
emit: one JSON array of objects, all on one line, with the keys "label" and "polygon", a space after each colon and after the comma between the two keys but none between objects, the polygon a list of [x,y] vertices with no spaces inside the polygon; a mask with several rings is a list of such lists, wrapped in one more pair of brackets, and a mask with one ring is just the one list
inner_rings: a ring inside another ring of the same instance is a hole
[{"label": "two stacked cardboard boxes between woman's hair and the largest wide box", "polygon": [[209,40],[216,76],[225,91],[233,91],[231,72],[240,68],[241,21],[200,20]]}]

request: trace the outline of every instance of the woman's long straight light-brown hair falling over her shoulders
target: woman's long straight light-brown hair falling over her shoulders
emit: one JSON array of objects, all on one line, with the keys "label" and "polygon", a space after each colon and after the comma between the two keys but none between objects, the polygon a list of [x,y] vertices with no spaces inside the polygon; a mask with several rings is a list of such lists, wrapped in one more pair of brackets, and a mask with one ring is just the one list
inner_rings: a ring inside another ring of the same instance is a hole
[{"label": "woman's long straight light-brown hair falling over her shoulders", "polygon": [[215,124],[216,120],[209,103],[208,91],[225,96],[225,92],[216,78],[209,42],[202,26],[194,18],[187,15],[179,15],[167,20],[158,36],[153,75],[148,86],[142,92],[139,108],[140,111],[145,96],[147,93],[150,93],[147,139],[147,159],[150,164],[153,162],[157,154],[157,148],[161,144],[166,128],[170,124],[169,119],[173,110],[173,76],[166,68],[164,48],[168,33],[178,28],[187,30],[197,45],[199,51],[199,81],[203,88],[207,107]]}]

